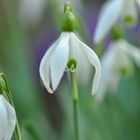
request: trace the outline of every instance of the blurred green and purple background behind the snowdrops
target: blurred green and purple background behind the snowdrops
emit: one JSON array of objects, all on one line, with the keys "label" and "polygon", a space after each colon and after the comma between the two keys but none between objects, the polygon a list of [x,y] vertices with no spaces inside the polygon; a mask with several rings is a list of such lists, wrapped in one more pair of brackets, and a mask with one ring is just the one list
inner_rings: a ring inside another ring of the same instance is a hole
[{"label": "blurred green and purple background behind the snowdrops", "polygon": [[[64,76],[56,93],[49,95],[38,72],[42,56],[61,33],[64,2],[0,0],[0,71],[9,81],[23,140],[74,140],[68,78]],[[104,1],[71,3],[80,23],[77,32],[93,47]],[[139,24],[124,32],[139,46]],[[135,74],[122,77],[117,93],[106,94],[100,104],[91,96],[90,84],[79,85],[80,140],[140,140],[140,69],[134,67]]]}]

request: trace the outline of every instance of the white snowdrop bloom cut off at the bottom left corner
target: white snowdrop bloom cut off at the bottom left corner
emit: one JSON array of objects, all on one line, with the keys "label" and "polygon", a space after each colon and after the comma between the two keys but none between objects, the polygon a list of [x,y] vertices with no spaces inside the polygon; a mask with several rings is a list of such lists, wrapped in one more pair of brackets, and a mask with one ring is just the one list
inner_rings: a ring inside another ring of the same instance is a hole
[{"label": "white snowdrop bloom cut off at the bottom left corner", "polygon": [[14,108],[0,95],[0,140],[11,140],[16,125]]}]

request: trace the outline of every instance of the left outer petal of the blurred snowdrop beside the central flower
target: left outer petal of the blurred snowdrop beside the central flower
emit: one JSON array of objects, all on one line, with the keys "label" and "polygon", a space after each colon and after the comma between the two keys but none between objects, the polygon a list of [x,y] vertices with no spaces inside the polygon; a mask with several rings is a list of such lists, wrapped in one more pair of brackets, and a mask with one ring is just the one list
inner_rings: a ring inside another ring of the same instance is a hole
[{"label": "left outer petal of the blurred snowdrop beside the central flower", "polygon": [[[112,89],[112,79],[113,79],[113,87],[115,88],[116,78],[114,78],[114,64],[115,64],[115,49],[109,48],[103,55],[101,59],[101,82],[99,85],[99,91],[96,94],[96,100],[102,101],[105,97],[106,92],[109,90],[109,87]],[[116,76],[115,76],[116,77]]]}]

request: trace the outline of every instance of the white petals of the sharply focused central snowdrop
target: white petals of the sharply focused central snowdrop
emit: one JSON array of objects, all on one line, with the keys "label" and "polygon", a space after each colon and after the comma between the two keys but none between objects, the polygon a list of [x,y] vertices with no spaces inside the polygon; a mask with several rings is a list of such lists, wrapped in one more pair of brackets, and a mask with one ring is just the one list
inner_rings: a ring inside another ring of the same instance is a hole
[{"label": "white petals of the sharply focused central snowdrop", "polygon": [[74,33],[62,32],[59,39],[49,48],[40,64],[40,76],[49,93],[58,87],[69,59],[77,61],[77,78],[88,75],[90,66],[95,67],[92,94],[99,86],[101,66],[97,55]]}]

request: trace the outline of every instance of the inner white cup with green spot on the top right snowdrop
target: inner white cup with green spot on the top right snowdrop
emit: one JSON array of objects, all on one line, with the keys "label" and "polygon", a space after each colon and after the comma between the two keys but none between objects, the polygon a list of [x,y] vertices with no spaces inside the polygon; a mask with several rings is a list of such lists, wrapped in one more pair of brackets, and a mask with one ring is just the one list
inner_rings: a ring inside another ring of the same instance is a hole
[{"label": "inner white cup with green spot on the top right snowdrop", "polygon": [[[123,9],[123,12],[122,12],[122,18],[124,22],[126,22],[126,24],[128,25],[132,25],[137,22],[137,19],[138,19],[137,6],[134,0],[125,1],[125,8]],[[125,20],[128,20],[128,21],[125,21]]]}]

